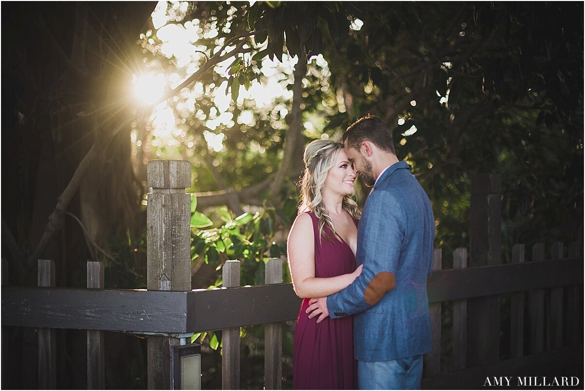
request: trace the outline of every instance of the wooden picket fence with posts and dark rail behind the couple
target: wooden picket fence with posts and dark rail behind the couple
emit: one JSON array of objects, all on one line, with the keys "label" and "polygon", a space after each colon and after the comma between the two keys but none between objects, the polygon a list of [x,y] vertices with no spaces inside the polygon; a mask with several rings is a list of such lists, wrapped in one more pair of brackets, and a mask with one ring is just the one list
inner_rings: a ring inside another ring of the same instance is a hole
[{"label": "wooden picket fence with posts and dark rail behind the couple", "polygon": [[[50,260],[39,260],[38,287],[2,286],[2,325],[38,328],[40,389],[56,387],[56,328],[87,330],[88,389],[104,388],[104,330],[149,336],[149,389],[170,386],[170,345],[195,332],[223,330],[222,388],[239,389],[238,328],[256,324],[266,324],[265,387],[281,389],[282,322],[296,319],[301,300],[291,284],[282,283],[281,259],[267,263],[266,285],[240,287],[239,261],[228,261],[222,289],[186,287],[190,231],[184,191],[190,167],[185,163],[149,163],[153,193],[147,217],[148,290],[103,289],[104,269],[99,262],[88,262],[87,289],[54,287]],[[494,183],[493,177],[487,179]],[[490,193],[494,188],[483,187],[484,199],[492,206],[497,200]],[[493,231],[490,224],[498,221],[488,221],[486,227]],[[473,243],[478,242],[472,241],[472,253]],[[487,241],[488,247],[493,243]],[[524,246],[516,245],[512,263],[467,267],[467,249],[460,248],[453,253],[453,269],[442,269],[442,251],[435,250],[435,270],[428,280],[433,348],[425,355],[424,388],[475,389],[484,386],[486,376],[535,376],[568,368],[575,359],[582,362],[582,243],[570,243],[567,249],[555,243],[550,253],[546,259],[545,246],[537,244],[525,257]],[[489,259],[500,256],[492,250],[488,254]],[[472,308],[486,306],[498,322],[476,327]],[[447,310],[452,319],[450,335],[441,330],[442,313]],[[510,314],[509,331],[501,328],[502,312]],[[482,335],[489,340],[502,334],[510,335],[510,352],[500,351],[499,337],[491,345],[470,344],[482,344]],[[488,362],[478,364],[484,357]]]}]

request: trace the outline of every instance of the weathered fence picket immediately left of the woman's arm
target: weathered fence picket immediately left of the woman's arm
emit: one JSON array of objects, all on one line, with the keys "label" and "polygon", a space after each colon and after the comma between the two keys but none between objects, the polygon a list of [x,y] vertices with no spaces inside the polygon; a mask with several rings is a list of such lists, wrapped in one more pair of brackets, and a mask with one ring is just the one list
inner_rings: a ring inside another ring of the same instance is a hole
[{"label": "weathered fence picket immediately left of the woman's arm", "polygon": [[[271,258],[266,263],[266,284],[283,282],[283,260]],[[264,389],[283,388],[283,324],[264,325]]]}]

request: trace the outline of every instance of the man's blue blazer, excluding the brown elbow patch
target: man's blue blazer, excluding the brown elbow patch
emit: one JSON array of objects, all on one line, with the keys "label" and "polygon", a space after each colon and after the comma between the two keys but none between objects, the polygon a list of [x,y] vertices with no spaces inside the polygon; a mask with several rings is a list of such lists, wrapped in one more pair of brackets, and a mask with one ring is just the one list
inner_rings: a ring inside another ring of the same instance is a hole
[{"label": "man's blue blazer, excluding the brown elbow patch", "polygon": [[[363,264],[362,274],[327,299],[331,318],[355,314],[357,360],[387,361],[431,351],[426,280],[434,239],[428,196],[406,162],[393,164],[374,185],[359,222],[356,262]],[[395,287],[370,306],[366,287],[383,272],[394,274]]]}]

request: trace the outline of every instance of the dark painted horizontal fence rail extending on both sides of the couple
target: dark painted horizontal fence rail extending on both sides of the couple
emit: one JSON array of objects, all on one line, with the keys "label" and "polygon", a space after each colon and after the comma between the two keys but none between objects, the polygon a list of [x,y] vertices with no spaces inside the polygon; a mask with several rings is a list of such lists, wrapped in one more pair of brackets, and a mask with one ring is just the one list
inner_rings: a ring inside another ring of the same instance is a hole
[{"label": "dark painted horizontal fence rail extending on both sides of the couple", "polygon": [[[583,283],[583,258],[435,270],[429,303]],[[148,291],[2,287],[2,325],[185,334],[297,318],[291,284]],[[213,313],[213,316],[209,314]]]}]

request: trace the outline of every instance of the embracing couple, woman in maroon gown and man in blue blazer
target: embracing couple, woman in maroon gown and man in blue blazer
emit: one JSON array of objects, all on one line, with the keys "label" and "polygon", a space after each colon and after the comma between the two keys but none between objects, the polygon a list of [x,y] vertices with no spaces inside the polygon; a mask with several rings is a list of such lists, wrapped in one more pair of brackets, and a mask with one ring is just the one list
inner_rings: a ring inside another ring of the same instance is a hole
[{"label": "embracing couple, woman in maroon gown and man in blue blazer", "polygon": [[[431,350],[426,280],[435,220],[387,126],[365,116],[343,144],[304,152],[301,207],[288,236],[294,289],[294,389],[419,389]],[[350,197],[360,174],[363,212]]]}]

